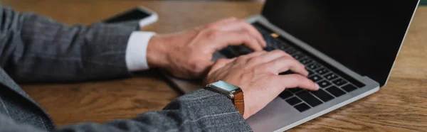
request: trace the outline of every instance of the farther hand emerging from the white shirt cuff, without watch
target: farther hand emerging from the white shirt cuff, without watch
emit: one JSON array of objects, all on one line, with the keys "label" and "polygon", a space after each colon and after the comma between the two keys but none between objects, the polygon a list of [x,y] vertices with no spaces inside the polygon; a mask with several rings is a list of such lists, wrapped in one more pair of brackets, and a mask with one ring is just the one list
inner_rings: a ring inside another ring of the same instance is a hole
[{"label": "farther hand emerging from the white shirt cuff, without watch", "polygon": [[204,77],[217,50],[242,43],[255,51],[266,46],[249,23],[228,18],[181,33],[154,36],[147,48],[147,62],[149,67],[165,68],[176,77]]}]

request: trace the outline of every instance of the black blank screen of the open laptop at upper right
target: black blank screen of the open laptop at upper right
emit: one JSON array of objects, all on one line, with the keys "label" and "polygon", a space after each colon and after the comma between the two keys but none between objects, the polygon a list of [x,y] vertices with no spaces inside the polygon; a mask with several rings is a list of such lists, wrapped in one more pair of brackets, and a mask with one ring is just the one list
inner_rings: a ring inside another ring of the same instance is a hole
[{"label": "black blank screen of the open laptop at upper right", "polygon": [[418,0],[268,0],[263,16],[384,86]]}]

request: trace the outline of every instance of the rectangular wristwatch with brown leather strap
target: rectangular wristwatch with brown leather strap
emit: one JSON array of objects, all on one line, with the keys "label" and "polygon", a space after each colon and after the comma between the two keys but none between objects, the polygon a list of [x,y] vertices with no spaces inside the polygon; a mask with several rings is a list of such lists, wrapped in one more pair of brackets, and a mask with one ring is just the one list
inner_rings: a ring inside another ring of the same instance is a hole
[{"label": "rectangular wristwatch with brown leather strap", "polygon": [[243,91],[240,87],[220,80],[206,85],[206,89],[223,94],[231,99],[238,112],[243,116],[243,112],[245,111],[245,101],[243,100]]}]

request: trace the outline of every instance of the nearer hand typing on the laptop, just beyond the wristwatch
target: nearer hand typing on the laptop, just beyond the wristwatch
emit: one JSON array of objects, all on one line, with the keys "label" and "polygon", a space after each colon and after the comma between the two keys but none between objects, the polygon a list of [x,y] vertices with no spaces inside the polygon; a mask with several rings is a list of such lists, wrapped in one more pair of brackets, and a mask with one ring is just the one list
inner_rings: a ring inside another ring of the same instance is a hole
[{"label": "nearer hand typing on the laptop, just beyond the wristwatch", "polygon": [[[288,70],[296,74],[278,75]],[[243,118],[248,119],[287,88],[319,89],[319,85],[307,79],[307,75],[304,65],[282,50],[274,50],[217,60],[205,82],[222,80],[241,87],[245,99]]]}]

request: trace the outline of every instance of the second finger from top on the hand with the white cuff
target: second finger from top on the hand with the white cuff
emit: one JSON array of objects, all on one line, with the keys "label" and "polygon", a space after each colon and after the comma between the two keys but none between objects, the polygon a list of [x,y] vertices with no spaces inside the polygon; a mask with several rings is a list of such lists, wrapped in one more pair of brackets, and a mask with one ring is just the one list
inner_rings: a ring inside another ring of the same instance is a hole
[{"label": "second finger from top on the hand with the white cuff", "polygon": [[218,42],[219,45],[212,45],[214,49],[221,50],[228,45],[241,45],[242,43],[252,50],[263,50],[261,45],[255,38],[252,38],[245,31],[207,31],[207,38],[211,38]]}]

